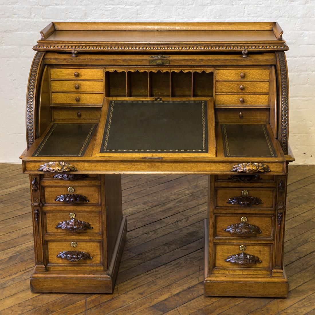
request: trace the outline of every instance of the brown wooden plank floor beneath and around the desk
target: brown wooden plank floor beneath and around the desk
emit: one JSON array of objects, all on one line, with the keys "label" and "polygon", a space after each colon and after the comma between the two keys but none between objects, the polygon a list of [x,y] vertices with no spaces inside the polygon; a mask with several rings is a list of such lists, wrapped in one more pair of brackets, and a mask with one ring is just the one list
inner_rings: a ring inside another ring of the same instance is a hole
[{"label": "brown wooden plank floor beneath and around the desk", "polygon": [[287,299],[205,297],[205,175],[122,175],[128,232],[113,294],[34,294],[28,176],[0,163],[0,314],[315,314],[315,166],[289,167]]}]

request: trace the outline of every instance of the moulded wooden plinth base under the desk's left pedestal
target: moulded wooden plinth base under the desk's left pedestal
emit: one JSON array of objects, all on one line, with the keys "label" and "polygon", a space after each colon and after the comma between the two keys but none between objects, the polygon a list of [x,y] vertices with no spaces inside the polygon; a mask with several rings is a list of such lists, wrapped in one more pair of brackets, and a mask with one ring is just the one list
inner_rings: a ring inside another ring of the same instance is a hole
[{"label": "moulded wooden plinth base under the desk's left pedestal", "polygon": [[123,217],[108,272],[49,272],[45,266],[36,266],[31,274],[33,293],[112,293],[117,277],[123,245],[126,239],[127,220]]}]

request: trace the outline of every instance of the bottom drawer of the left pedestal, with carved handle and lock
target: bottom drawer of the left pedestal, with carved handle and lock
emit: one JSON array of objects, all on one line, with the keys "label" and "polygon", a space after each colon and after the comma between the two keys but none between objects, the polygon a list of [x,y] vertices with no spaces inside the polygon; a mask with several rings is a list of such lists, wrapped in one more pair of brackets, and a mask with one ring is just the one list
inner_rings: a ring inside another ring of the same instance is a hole
[{"label": "bottom drawer of the left pedestal, with carved handle and lock", "polygon": [[101,241],[48,241],[47,249],[49,265],[102,264]]}]

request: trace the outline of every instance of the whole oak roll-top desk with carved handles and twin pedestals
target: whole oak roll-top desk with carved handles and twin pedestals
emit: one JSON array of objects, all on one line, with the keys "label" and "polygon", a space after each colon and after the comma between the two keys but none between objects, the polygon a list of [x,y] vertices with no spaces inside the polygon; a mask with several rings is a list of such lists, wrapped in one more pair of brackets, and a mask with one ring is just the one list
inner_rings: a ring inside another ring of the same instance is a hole
[{"label": "whole oak roll-top desk with carved handles and twin pedestals", "polygon": [[286,297],[289,87],[277,23],[51,23],[28,81],[32,292],[111,293],[121,175],[208,174],[204,292]]}]

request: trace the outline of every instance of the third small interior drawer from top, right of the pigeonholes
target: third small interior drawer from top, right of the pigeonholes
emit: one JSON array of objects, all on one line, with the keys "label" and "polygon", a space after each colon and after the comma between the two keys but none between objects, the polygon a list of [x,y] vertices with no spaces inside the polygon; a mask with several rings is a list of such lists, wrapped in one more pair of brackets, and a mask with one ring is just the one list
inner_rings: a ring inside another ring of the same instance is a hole
[{"label": "third small interior drawer from top, right of the pigeonholes", "polygon": [[268,105],[268,94],[216,94],[215,105]]}]

